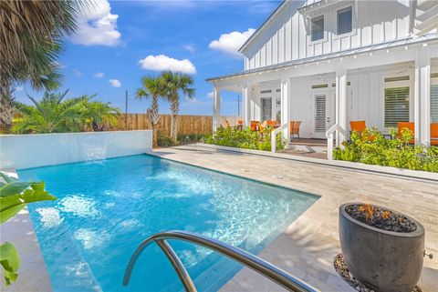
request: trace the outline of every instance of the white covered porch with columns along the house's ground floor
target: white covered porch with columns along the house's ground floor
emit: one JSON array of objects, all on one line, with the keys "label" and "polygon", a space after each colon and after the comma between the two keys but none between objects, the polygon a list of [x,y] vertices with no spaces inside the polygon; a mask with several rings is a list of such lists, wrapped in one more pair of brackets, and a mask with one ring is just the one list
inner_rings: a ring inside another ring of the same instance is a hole
[{"label": "white covered porch with columns along the house's ground floor", "polygon": [[[383,135],[398,122],[412,122],[415,144],[425,146],[434,138],[431,124],[438,123],[438,40],[431,35],[208,81],[214,86],[214,130],[221,92],[229,90],[243,96],[244,127],[276,121],[292,149],[323,141],[328,158],[332,146],[349,139],[351,121],[365,121]],[[290,121],[301,122],[300,139],[291,139]]]}]

